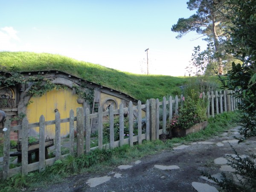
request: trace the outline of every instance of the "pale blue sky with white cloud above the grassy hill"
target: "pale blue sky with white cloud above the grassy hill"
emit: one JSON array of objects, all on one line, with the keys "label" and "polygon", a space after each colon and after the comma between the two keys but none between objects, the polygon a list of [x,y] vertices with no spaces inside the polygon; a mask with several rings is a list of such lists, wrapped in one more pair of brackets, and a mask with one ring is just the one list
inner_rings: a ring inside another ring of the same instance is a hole
[{"label": "pale blue sky with white cloud above the grassy hill", "polygon": [[0,0],[0,51],[49,52],[131,73],[183,76],[206,42],[171,31],[187,0]]}]

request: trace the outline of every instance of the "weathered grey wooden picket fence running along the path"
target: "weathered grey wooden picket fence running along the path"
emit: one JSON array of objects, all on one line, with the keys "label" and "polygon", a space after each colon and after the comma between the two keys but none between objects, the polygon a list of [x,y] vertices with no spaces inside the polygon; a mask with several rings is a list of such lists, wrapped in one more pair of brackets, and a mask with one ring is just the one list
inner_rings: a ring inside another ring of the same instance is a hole
[{"label": "weathered grey wooden picket fence running along the path", "polygon": [[[208,117],[214,116],[218,113],[223,113],[224,111],[234,111],[237,109],[237,103],[239,99],[235,99],[233,95],[229,94],[229,91],[219,91],[203,93],[203,96],[207,96],[208,99],[208,108],[207,115]],[[137,106],[133,106],[130,101],[129,107],[124,108],[123,104],[120,104],[119,109],[114,110],[113,106],[110,107],[109,111],[102,111],[102,108],[99,108],[98,113],[90,114],[89,109],[84,110],[83,108],[77,108],[76,114],[74,116],[74,111],[70,110],[70,117],[66,119],[60,119],[60,113],[55,113],[55,120],[45,121],[44,116],[40,117],[40,121],[37,123],[29,124],[28,119],[25,117],[22,121],[22,125],[17,125],[11,127],[10,121],[7,119],[5,121],[5,130],[4,131],[4,156],[3,156],[3,171],[0,172],[0,178],[6,179],[15,175],[18,172],[21,172],[24,175],[27,175],[28,172],[39,170],[43,172],[46,166],[53,165],[56,160],[66,157],[67,155],[77,156],[81,154],[87,154],[91,150],[96,148],[115,148],[122,146],[124,144],[129,144],[130,146],[134,145],[134,142],[138,144],[142,143],[142,140],[156,140],[159,139],[159,135],[166,133],[166,123],[167,120],[172,119],[172,113],[178,113],[179,105],[183,103],[183,96],[180,98],[175,96],[172,99],[172,96],[166,100],[166,97],[163,97],[163,101],[160,102],[159,99],[149,99],[146,101],[146,104],[143,104],[138,101]],[[171,110],[169,110],[171,109]],[[137,111],[138,117],[138,134],[134,135],[134,116],[133,111]],[[142,134],[142,110],[145,111],[145,134]],[[160,110],[163,112],[163,118],[160,119]],[[129,115],[129,138],[124,138],[124,113]],[[168,113],[168,114],[167,114]],[[114,140],[114,116],[119,115],[119,140]],[[110,143],[103,145],[103,116],[109,116],[110,123]],[[167,119],[168,117],[168,119]],[[93,118],[98,118],[99,127],[98,127],[98,146],[90,148],[90,120]],[[162,128],[160,129],[160,120],[162,120]],[[74,140],[74,131],[75,131],[75,122],[76,121],[76,131],[77,131],[77,147],[75,151],[75,140]],[[70,151],[69,154],[61,155],[61,123],[70,123]],[[50,159],[45,159],[45,126],[46,125],[55,125],[55,157]],[[35,163],[28,164],[28,133],[30,128],[39,127],[39,161]],[[84,128],[86,131],[85,136],[85,149],[84,149]],[[0,129],[2,132],[3,129]],[[21,131],[22,133],[22,161],[21,166],[10,169],[10,132],[11,131]]]}]

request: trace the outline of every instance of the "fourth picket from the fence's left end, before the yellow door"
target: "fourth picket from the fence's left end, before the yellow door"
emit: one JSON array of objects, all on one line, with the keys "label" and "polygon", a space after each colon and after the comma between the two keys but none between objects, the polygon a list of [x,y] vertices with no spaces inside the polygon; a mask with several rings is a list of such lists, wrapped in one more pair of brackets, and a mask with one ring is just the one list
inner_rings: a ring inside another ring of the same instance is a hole
[{"label": "fourth picket from the fence's left end, before the yellow door", "polygon": [[55,160],[61,159],[61,115],[55,113]]}]

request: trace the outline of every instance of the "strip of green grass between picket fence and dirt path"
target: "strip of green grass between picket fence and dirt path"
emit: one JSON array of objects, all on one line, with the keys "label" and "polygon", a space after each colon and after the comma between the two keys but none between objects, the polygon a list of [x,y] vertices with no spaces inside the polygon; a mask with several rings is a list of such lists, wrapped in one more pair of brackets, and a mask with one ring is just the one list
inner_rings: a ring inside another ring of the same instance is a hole
[{"label": "strip of green grass between picket fence and dirt path", "polygon": [[[143,156],[155,154],[162,150],[172,150],[174,143],[186,144],[195,141],[203,141],[220,135],[223,131],[236,126],[240,115],[237,112],[218,114],[209,119],[207,128],[198,133],[189,134],[183,138],[171,140],[145,141],[142,145],[123,145],[113,150],[95,150],[89,155],[81,157],[68,156],[58,160],[53,166],[49,166],[42,173],[30,172],[27,176],[17,174],[7,180],[0,180],[0,192],[18,191],[26,187],[29,189],[43,187],[51,183],[59,183],[65,177],[88,172],[110,171],[111,167],[128,164]],[[206,166],[211,162],[206,162]]]}]

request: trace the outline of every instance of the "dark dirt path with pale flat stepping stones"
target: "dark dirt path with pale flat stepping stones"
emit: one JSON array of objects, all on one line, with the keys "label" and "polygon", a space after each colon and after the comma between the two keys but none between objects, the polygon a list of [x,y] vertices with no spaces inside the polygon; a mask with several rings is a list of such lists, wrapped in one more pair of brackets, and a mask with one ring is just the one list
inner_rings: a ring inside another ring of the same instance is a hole
[{"label": "dark dirt path with pale flat stepping stones", "polygon": [[[239,136],[237,130],[238,128],[231,129],[221,137],[215,137],[206,142],[177,146],[172,150],[136,159],[127,165],[130,166],[128,169],[122,169],[127,167],[121,166],[97,174],[77,175],[65,179],[63,183],[47,186],[37,191],[196,192],[200,191],[200,187],[205,187],[200,183],[207,183],[212,188],[202,188],[202,191],[214,192],[213,188],[218,189],[218,186],[202,179],[201,171],[211,174],[219,174],[221,170],[232,171],[224,166],[224,158],[219,158],[225,157],[225,154],[234,154],[230,144],[241,155],[256,154],[256,138],[238,144],[233,138],[234,135]],[[168,170],[163,170],[166,168]]]}]

